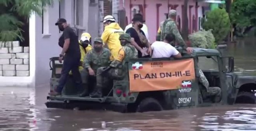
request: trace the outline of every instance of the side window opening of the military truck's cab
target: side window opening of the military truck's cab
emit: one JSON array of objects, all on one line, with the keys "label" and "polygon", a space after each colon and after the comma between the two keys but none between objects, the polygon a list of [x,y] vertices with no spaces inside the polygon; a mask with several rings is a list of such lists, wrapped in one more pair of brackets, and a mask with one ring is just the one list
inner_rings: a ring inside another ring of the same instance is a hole
[{"label": "side window opening of the military truck's cab", "polygon": [[216,56],[198,57],[197,65],[202,71],[219,71],[218,59]]}]

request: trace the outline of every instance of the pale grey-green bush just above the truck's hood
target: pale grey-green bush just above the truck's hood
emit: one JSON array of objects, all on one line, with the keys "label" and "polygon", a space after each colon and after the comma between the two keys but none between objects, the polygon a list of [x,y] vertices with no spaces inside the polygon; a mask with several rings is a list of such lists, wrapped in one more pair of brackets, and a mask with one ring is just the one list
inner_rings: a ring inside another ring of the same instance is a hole
[{"label": "pale grey-green bush just above the truck's hood", "polygon": [[215,49],[215,38],[213,36],[212,30],[199,30],[191,35],[189,35],[189,40],[191,42],[192,47],[200,47],[200,48],[209,48]]}]

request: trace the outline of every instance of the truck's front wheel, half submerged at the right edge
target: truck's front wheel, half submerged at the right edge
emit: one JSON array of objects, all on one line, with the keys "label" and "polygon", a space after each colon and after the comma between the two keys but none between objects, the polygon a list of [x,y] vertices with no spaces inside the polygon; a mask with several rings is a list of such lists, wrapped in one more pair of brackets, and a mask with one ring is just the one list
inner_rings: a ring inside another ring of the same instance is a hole
[{"label": "truck's front wheel, half submerged at the right edge", "polygon": [[256,104],[256,96],[253,92],[239,92],[235,103]]}]

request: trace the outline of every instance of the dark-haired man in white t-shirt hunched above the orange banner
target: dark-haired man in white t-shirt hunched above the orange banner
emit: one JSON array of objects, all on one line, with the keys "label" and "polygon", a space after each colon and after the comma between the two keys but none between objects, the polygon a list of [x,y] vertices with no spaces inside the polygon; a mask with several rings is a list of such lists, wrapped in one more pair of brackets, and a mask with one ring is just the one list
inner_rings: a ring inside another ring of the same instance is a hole
[{"label": "dark-haired man in white t-shirt hunched above the orange banner", "polygon": [[164,58],[164,57],[175,57],[180,58],[182,55],[178,52],[175,47],[169,43],[175,40],[173,34],[167,34],[164,38],[164,41],[156,41],[151,45],[153,50],[152,58]]}]

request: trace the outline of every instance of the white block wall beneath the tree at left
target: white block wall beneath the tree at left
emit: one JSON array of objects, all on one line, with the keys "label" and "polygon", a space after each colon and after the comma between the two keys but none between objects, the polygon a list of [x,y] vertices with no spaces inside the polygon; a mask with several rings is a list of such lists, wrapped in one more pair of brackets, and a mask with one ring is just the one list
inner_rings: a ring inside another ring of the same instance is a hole
[{"label": "white block wall beneath the tree at left", "polygon": [[0,47],[0,76],[29,76],[29,47],[19,41],[0,42]]}]

